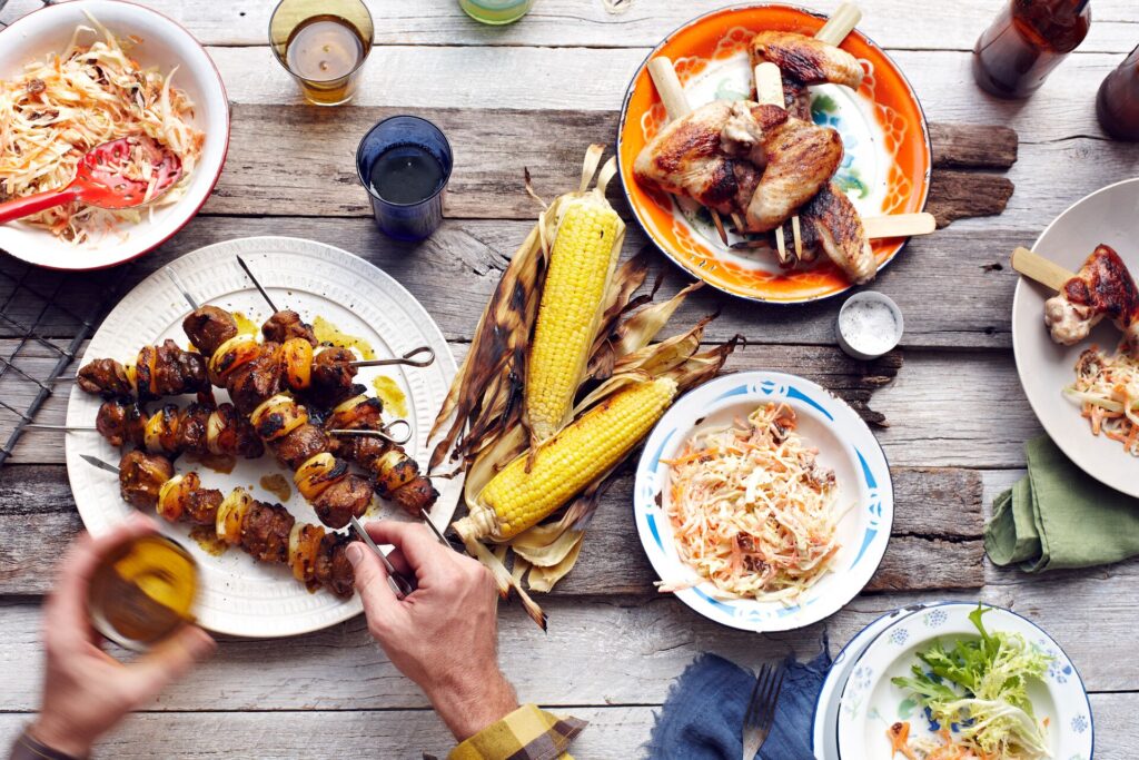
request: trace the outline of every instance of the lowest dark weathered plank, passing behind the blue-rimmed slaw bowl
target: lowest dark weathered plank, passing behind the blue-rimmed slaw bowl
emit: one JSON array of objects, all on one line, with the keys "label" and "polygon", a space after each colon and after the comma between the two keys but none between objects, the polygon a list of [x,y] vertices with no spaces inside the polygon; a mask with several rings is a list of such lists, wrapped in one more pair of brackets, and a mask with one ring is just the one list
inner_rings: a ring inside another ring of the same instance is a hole
[{"label": "lowest dark weathered plank, passing behind the blue-rimmed slaw bowl", "polygon": [[[606,491],[581,561],[556,595],[654,594],[657,579],[632,521],[632,465]],[[981,476],[962,469],[894,469],[894,541],[870,590],[980,588]],[[936,520],[933,515],[944,516]],[[952,515],[950,517],[950,515]],[[82,528],[60,466],[0,471],[0,594],[43,594],[52,566]]]}]

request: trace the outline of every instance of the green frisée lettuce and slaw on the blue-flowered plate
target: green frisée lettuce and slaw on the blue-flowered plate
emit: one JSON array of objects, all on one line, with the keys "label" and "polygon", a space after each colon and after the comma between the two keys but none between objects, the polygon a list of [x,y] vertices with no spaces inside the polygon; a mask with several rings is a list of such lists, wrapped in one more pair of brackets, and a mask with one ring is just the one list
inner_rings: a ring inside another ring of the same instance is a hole
[{"label": "green fris\u00e9e lettuce and slaw on the blue-flowered plate", "polygon": [[[909,724],[890,727],[894,752],[908,760],[1040,760],[1051,757],[1044,727],[1032,711],[1029,683],[1043,678],[1052,657],[1019,634],[989,632],[969,614],[980,638],[958,639],[947,649],[935,641],[918,652],[908,678],[893,684],[909,689],[943,728],[937,739],[910,738]],[[956,733],[944,727],[953,725]]]}]

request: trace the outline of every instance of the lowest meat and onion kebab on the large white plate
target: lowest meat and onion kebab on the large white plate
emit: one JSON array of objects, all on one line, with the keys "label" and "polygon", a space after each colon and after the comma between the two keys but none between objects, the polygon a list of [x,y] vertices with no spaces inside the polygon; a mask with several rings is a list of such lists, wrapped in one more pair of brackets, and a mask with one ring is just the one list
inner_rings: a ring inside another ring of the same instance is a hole
[{"label": "lowest meat and onion kebab on the large white plate", "polygon": [[129,451],[118,467],[123,500],[140,509],[154,508],[169,522],[213,528],[219,539],[239,546],[259,562],[286,564],[310,590],[323,587],[341,598],[352,596],[352,564],[344,551],[351,539],[320,525],[297,523],[279,504],[254,500],[244,489],[223,496],[202,488],[197,473],[174,475],[170,459]]}]

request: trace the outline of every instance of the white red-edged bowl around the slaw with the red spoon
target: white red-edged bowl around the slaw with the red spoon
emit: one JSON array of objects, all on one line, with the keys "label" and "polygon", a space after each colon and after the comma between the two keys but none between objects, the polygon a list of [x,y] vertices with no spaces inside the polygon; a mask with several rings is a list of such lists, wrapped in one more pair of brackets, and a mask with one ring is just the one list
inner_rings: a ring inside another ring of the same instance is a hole
[{"label": "white red-edged bowl around the slaw with the red spoon", "polygon": [[24,65],[63,51],[88,17],[115,36],[138,38],[130,55],[142,67],[169,73],[174,87],[194,101],[194,126],[205,134],[202,156],[177,203],[144,213],[137,223],[121,224],[98,240],[80,244],[50,231],[11,222],[0,224],[0,251],[52,269],[99,269],[129,261],[161,245],[180,230],[206,202],[221,175],[229,148],[229,100],[221,74],[194,35],[162,14],[120,0],[73,0],[47,6],[0,31],[0,79],[21,74]]}]

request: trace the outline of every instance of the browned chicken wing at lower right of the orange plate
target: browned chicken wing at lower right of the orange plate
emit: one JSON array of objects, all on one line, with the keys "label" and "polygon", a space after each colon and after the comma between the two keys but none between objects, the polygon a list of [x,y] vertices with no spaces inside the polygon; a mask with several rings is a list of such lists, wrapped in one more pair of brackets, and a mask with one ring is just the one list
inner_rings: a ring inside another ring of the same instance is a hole
[{"label": "browned chicken wing at lower right of the orange plate", "polygon": [[834,182],[800,210],[800,222],[811,229],[810,239],[852,283],[861,285],[874,279],[878,262],[862,228],[862,218]]}]

